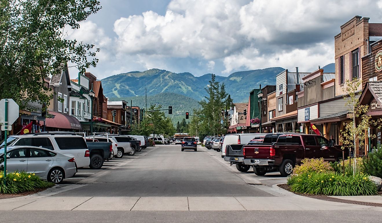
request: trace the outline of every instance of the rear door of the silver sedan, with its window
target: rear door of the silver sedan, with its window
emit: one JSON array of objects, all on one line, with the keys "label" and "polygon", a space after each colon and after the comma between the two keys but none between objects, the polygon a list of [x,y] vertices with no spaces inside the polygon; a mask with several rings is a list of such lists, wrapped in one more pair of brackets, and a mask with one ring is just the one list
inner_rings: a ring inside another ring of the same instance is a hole
[{"label": "rear door of the silver sedan, with its window", "polygon": [[47,176],[57,154],[40,148],[29,148],[29,151],[27,171],[39,177]]}]

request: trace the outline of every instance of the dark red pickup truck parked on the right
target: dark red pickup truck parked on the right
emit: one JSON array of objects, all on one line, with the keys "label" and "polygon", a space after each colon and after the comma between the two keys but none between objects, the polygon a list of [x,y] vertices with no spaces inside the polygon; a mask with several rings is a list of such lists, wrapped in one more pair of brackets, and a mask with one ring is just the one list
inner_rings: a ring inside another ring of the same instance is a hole
[{"label": "dark red pickup truck parked on the right", "polygon": [[[277,142],[243,146],[244,164],[253,166],[257,176],[280,171],[282,176],[292,173],[293,167],[304,158],[324,158],[325,161],[342,159],[341,146],[330,146],[329,141],[319,135],[285,134]],[[345,154],[345,157],[348,153]]]}]

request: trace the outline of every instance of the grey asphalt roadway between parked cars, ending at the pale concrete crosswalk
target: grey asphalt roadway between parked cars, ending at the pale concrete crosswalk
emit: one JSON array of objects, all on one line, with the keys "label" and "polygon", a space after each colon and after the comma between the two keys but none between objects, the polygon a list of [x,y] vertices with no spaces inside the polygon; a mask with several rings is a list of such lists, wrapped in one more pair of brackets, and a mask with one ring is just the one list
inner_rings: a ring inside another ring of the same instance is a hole
[{"label": "grey asphalt roadway between parked cars, ending at the pale concrete crosswalk", "polygon": [[55,196],[273,196],[245,183],[201,146],[196,152],[180,147],[157,146],[92,184]]}]

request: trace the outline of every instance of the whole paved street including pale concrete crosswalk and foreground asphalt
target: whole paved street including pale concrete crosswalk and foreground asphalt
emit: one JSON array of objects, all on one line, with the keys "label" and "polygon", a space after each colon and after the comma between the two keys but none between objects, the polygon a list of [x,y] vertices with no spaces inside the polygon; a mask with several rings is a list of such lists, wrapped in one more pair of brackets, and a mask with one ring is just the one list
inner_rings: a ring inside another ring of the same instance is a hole
[{"label": "whole paved street including pale concrete crosswalk and foreground asphalt", "polygon": [[357,213],[380,222],[380,207],[286,192],[274,185],[286,182],[278,173],[240,173],[201,146],[157,145],[105,164],[38,195],[0,200],[1,222],[359,222]]}]

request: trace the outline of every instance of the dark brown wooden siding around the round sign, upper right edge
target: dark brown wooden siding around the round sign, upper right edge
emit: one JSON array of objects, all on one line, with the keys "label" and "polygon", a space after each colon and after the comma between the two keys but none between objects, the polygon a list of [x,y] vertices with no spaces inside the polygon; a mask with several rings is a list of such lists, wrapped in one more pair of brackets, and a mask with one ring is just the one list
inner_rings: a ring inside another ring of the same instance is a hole
[{"label": "dark brown wooden siding around the round sign, upper right edge", "polygon": [[378,81],[382,80],[382,71],[378,72],[375,67],[376,54],[382,50],[382,42],[377,42],[371,46],[371,54],[362,58],[362,87],[370,78],[377,77]]}]

